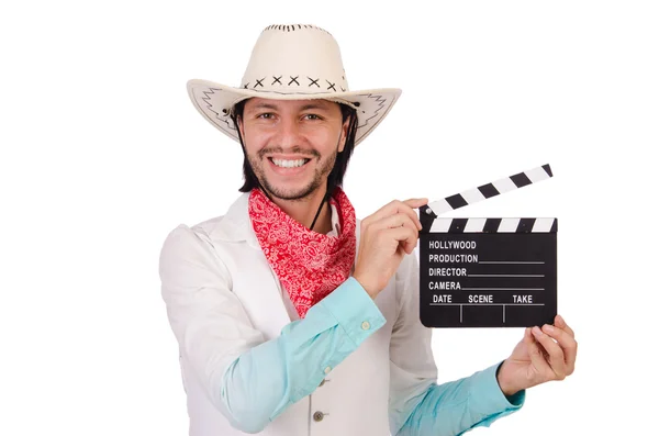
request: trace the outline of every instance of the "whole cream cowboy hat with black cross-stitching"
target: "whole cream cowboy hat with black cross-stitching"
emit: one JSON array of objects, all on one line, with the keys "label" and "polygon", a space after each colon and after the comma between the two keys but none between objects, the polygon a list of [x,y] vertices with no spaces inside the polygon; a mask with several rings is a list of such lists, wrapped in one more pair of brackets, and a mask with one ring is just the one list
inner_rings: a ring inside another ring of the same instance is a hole
[{"label": "whole cream cowboy hat with black cross-stitching", "polygon": [[252,97],[347,104],[357,111],[355,146],[387,116],[402,92],[396,88],[350,91],[338,44],[327,31],[310,24],[266,27],[238,88],[200,79],[189,80],[187,87],[194,108],[235,141],[233,108]]}]

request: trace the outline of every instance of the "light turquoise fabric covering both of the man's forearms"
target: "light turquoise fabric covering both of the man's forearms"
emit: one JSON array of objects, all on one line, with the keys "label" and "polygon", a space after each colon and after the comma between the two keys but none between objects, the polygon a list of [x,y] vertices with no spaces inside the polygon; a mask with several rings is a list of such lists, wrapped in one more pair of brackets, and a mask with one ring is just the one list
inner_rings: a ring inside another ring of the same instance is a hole
[{"label": "light turquoise fabric covering both of the man's forearms", "polygon": [[[361,327],[365,321],[370,328]],[[348,278],[313,305],[303,320],[291,322],[279,337],[249,349],[228,366],[221,389],[231,413],[227,418],[254,433],[265,428],[319,388],[324,368],[339,365],[384,324],[375,301],[356,279]],[[416,401],[411,399],[407,410],[390,410],[391,434],[461,435],[517,411],[524,404],[525,391],[506,398],[496,381],[499,365],[459,380],[434,383]],[[239,411],[246,410],[249,414],[242,415]]]}]

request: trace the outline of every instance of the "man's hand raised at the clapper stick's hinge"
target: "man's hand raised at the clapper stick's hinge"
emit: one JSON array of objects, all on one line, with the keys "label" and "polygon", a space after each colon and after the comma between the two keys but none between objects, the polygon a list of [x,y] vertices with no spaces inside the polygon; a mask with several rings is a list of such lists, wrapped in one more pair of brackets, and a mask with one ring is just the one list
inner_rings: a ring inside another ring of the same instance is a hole
[{"label": "man's hand raised at the clapper stick's hinge", "polygon": [[359,253],[353,277],[375,299],[418,241],[421,222],[414,208],[427,199],[394,200],[361,221]]}]

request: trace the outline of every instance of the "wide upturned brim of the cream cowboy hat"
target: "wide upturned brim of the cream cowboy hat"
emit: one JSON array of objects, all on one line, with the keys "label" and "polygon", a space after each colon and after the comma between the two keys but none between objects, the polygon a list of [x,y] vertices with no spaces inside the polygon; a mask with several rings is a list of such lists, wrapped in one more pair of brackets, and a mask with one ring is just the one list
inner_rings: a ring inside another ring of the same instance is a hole
[{"label": "wide upturned brim of the cream cowboy hat", "polygon": [[314,100],[323,99],[344,103],[357,111],[355,146],[362,142],[389,114],[402,93],[398,88],[366,89],[345,92],[284,93],[257,91],[192,79],[187,83],[188,96],[201,115],[234,141],[239,141],[236,126],[231,119],[233,107],[253,97],[270,100]]}]

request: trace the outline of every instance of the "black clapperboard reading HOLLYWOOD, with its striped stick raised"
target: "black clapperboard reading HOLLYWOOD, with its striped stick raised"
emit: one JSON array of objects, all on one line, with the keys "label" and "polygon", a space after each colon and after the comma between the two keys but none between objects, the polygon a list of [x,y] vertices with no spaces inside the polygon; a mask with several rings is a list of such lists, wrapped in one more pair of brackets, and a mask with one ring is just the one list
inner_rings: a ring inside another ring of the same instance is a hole
[{"label": "black clapperboard reading HOLLYWOOD, with its striped stick raised", "polygon": [[552,177],[549,165],[420,208],[420,316],[426,327],[529,327],[557,313],[555,217],[439,217]]}]

